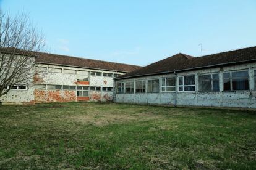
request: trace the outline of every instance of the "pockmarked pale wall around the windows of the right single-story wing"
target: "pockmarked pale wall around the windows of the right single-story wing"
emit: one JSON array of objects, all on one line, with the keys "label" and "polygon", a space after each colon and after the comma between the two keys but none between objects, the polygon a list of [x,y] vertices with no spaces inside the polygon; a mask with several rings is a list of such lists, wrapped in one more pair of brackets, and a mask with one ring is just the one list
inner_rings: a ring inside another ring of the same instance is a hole
[{"label": "pockmarked pale wall around the windows of the right single-story wing", "polygon": [[[144,76],[139,78],[120,79],[116,83],[126,83],[130,81],[146,80],[146,93],[116,94],[116,103],[139,103],[177,106],[201,106],[201,107],[238,107],[256,108],[256,90],[254,89],[254,70],[256,63],[248,63],[223,68],[210,68],[195,71],[184,71],[168,75]],[[226,71],[249,70],[249,91],[223,91],[223,73]],[[207,73],[219,73],[218,92],[198,92],[198,75]],[[195,91],[179,92],[178,76],[195,75]],[[176,91],[161,92],[161,78],[176,76]],[[147,79],[159,79],[160,92],[147,93]],[[135,89],[135,83],[134,83]],[[135,91],[135,90],[134,90]]]}]

